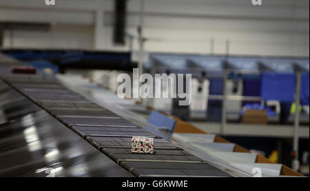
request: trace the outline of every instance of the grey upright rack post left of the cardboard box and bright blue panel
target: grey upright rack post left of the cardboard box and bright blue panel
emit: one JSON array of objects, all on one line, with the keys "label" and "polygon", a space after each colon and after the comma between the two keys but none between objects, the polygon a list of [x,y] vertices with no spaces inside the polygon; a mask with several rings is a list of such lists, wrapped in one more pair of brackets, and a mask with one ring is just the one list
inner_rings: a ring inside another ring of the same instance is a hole
[{"label": "grey upright rack post left of the cardboard box and bright blue panel", "polygon": [[220,123],[220,134],[226,133],[226,122],[227,122],[227,111],[226,111],[226,103],[227,103],[227,79],[228,79],[229,70],[225,69],[224,77],[223,77],[223,99],[222,99],[222,121]]}]

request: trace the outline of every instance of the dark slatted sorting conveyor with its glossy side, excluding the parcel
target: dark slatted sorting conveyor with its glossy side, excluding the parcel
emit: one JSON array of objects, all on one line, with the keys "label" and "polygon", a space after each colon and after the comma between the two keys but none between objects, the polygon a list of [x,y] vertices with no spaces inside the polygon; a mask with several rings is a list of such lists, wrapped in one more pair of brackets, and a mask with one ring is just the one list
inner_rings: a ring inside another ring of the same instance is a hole
[{"label": "dark slatted sorting conveyor with its glossy side, excluding the parcel", "polygon": [[[132,154],[134,135],[154,138],[154,154]],[[231,177],[1,54],[0,177],[49,177],[51,172],[56,177]]]}]

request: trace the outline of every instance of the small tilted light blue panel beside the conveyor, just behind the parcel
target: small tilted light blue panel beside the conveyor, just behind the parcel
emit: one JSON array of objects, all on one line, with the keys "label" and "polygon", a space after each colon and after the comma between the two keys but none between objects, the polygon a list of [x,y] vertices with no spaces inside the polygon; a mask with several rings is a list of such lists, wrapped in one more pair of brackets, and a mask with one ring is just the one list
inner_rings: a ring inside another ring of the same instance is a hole
[{"label": "small tilted light blue panel beside the conveyor, just behind the parcel", "polygon": [[170,132],[174,132],[174,125],[176,125],[176,121],[174,121],[174,119],[171,119],[156,111],[151,112],[148,122],[156,127],[170,130]]}]

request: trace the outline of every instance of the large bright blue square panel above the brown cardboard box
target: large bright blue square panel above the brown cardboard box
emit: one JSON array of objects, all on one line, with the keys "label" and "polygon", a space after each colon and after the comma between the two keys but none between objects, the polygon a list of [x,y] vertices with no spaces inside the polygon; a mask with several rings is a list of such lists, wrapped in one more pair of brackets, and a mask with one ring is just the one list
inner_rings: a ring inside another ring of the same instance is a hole
[{"label": "large bright blue square panel above the brown cardboard box", "polygon": [[295,94],[295,74],[263,72],[260,88],[264,100],[293,102]]}]

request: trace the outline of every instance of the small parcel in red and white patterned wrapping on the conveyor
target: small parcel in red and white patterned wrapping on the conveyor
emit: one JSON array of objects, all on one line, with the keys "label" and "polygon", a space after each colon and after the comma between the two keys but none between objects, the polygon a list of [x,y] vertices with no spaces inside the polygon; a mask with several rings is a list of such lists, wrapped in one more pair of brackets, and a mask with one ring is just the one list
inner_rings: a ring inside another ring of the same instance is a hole
[{"label": "small parcel in red and white patterned wrapping on the conveyor", "polygon": [[147,153],[152,154],[154,152],[154,139],[149,137],[132,137],[132,152],[134,153]]}]

